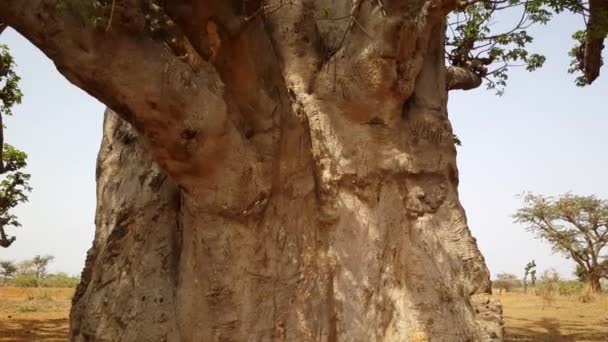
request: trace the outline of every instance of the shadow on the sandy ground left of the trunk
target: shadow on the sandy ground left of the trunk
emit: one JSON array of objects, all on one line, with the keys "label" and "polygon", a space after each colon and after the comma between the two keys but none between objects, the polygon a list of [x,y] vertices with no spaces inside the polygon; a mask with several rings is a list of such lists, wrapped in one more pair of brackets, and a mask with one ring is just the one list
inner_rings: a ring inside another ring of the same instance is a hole
[{"label": "shadow on the sandy ground left of the trunk", "polygon": [[0,320],[0,341],[67,341],[69,320],[14,319]]}]

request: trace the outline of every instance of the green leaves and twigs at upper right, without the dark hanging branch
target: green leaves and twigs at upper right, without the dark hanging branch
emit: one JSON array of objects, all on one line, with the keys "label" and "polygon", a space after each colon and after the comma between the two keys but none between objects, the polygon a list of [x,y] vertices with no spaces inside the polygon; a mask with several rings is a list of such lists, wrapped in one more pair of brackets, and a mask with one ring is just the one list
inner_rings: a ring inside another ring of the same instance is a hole
[{"label": "green leaves and twigs at upper right, without the dark hanging branch", "polygon": [[[454,66],[465,67],[486,80],[488,89],[502,95],[511,67],[525,67],[534,71],[543,66],[546,58],[530,53],[534,38],[528,33],[533,25],[548,23],[555,14],[569,11],[587,17],[588,9],[579,0],[495,0],[465,3],[450,16],[446,37],[446,58]],[[493,29],[497,18],[509,15],[519,18],[511,27]],[[608,23],[604,24],[608,27]],[[583,70],[580,53],[589,29],[574,35],[577,46],[570,73]],[[588,83],[584,76],[576,79],[578,85]]]}]

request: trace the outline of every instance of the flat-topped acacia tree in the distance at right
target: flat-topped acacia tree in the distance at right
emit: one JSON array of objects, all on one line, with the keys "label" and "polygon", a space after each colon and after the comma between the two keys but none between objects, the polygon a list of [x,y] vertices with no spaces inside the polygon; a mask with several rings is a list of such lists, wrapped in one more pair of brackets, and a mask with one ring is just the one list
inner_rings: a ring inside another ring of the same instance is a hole
[{"label": "flat-topped acacia tree in the distance at right", "polygon": [[514,215],[553,250],[572,258],[594,292],[601,291],[602,259],[608,244],[608,202],[595,196],[565,194],[556,199],[527,193]]}]

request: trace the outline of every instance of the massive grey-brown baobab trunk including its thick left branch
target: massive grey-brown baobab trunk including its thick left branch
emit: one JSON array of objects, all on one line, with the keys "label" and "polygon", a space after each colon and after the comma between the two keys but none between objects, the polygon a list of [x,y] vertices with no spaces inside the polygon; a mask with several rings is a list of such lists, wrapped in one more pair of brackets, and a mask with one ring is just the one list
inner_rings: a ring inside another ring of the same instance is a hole
[{"label": "massive grey-brown baobab trunk including its thick left branch", "polygon": [[116,0],[95,29],[1,1],[114,110],[72,340],[502,339],[458,200],[456,2]]}]

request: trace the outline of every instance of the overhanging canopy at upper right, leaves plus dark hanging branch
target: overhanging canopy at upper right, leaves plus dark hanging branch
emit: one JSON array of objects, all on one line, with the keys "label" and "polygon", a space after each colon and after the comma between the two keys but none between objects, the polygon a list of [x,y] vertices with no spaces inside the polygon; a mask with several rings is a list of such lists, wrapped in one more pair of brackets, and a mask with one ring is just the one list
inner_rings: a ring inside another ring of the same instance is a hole
[{"label": "overhanging canopy at upper right, leaves plus dark hanging branch", "polygon": [[[496,0],[465,1],[450,17],[446,38],[446,57],[452,66],[464,67],[477,78],[468,87],[486,80],[489,89],[502,94],[508,70],[522,66],[534,71],[545,62],[545,56],[531,53],[534,37],[528,29],[544,25],[556,14],[570,12],[585,23],[574,32],[570,51],[570,73],[578,74],[576,84],[593,83],[602,65],[603,41],[608,31],[608,6],[602,1],[578,0]],[[517,18],[511,27],[493,29],[497,20]],[[464,87],[465,89],[467,87]]]}]

